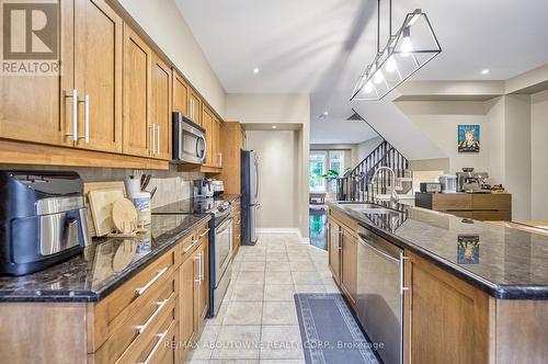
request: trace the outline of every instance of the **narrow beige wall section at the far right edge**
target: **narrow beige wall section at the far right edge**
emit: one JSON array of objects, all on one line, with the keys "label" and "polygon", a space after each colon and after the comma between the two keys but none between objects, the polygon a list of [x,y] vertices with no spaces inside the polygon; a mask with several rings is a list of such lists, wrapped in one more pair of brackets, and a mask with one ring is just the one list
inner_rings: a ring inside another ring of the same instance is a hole
[{"label": "narrow beige wall section at the far right edge", "polygon": [[548,91],[530,98],[530,218],[548,220]]}]

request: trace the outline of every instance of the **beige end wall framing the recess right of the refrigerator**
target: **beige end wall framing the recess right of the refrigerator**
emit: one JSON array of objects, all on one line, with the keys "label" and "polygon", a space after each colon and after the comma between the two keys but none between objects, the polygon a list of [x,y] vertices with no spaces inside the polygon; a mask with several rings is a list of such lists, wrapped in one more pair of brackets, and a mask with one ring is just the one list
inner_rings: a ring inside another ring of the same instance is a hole
[{"label": "beige end wall framing the recess right of the refrigerator", "polygon": [[[296,227],[299,228],[302,237],[308,238],[308,162],[310,155],[310,95],[304,93],[265,93],[251,94],[238,93],[227,95],[226,120],[239,121],[246,124],[276,124],[277,130],[282,130],[283,124],[290,124],[288,128],[295,128],[295,124],[300,125],[300,129],[295,132],[296,135],[296,169],[294,169],[297,192],[295,195],[296,211]],[[247,148],[252,149],[250,135],[254,130],[248,130]],[[274,132],[276,133],[276,132]],[[282,151],[281,151],[282,152]],[[263,168],[275,168],[270,166],[271,162],[262,163]],[[279,163],[278,160],[273,163]],[[290,202],[289,200],[285,201]],[[264,207],[266,209],[270,207]],[[275,215],[277,212],[272,207],[272,211],[264,214]]]}]

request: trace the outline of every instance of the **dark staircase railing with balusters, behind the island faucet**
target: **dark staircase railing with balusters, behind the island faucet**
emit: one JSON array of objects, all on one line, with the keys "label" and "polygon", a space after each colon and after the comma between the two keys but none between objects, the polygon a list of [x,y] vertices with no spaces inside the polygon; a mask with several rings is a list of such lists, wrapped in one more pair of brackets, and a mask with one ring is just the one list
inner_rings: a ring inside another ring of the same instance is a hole
[{"label": "dark staircase railing with balusters, behind the island faucet", "polygon": [[388,194],[395,189],[398,193],[407,193],[412,189],[409,161],[387,140],[383,140],[356,168],[336,179],[336,200],[367,201],[367,193],[373,174],[379,167],[389,167],[396,172],[396,185],[390,185],[390,172],[378,173],[374,190],[379,194]]}]

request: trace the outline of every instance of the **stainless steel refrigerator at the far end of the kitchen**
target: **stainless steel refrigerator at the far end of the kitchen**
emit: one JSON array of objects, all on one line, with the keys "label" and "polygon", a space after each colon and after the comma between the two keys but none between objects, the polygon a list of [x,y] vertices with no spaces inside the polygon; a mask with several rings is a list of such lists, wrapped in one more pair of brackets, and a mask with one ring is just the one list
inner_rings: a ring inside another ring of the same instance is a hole
[{"label": "stainless steel refrigerator at the far end of the kitchen", "polygon": [[259,159],[253,150],[241,151],[241,243],[256,243],[255,221],[259,201]]}]

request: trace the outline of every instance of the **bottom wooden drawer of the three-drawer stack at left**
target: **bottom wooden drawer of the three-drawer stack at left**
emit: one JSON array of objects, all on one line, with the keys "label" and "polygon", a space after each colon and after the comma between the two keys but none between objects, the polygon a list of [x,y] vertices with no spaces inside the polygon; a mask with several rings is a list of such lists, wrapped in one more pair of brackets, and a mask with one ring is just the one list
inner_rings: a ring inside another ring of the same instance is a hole
[{"label": "bottom wooden drawer of the three-drawer stack at left", "polygon": [[179,330],[174,300],[149,328],[132,342],[116,363],[161,363],[165,349],[172,346],[173,332]]}]

